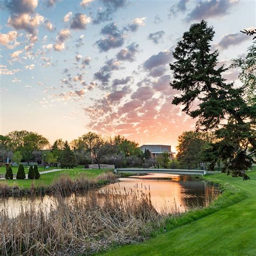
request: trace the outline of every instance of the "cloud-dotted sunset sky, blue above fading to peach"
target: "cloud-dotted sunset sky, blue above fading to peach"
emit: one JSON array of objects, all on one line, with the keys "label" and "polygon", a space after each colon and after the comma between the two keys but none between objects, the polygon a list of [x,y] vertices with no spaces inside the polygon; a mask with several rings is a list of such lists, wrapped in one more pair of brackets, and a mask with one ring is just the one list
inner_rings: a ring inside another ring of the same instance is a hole
[{"label": "cloud-dotted sunset sky, blue above fading to peach", "polygon": [[[4,0],[0,2],[0,133],[52,143],[88,131],[167,144],[196,120],[172,105],[172,51],[192,23],[215,30],[226,66],[245,56],[252,0]],[[225,77],[238,83],[239,70]]]}]

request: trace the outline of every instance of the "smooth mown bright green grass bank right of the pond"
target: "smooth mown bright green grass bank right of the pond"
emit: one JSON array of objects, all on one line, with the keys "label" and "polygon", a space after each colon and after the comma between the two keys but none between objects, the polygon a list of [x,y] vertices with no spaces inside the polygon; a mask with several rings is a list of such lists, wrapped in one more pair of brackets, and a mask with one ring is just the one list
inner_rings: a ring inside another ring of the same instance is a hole
[{"label": "smooth mown bright green grass bank right of the pond", "polygon": [[223,195],[214,203],[215,209],[188,213],[191,218],[185,216],[176,224],[172,221],[166,233],[106,255],[256,255],[256,171],[249,176],[248,181],[222,173],[206,176],[207,180],[226,184]]}]

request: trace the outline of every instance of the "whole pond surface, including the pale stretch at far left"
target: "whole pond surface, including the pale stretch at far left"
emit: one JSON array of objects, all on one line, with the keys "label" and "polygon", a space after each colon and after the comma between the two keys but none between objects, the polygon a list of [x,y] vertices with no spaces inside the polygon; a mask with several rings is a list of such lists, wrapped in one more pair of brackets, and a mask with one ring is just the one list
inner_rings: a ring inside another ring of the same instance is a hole
[{"label": "whole pond surface, including the pale stretch at far left", "polygon": [[[151,173],[145,176],[131,176],[120,178],[118,183],[109,184],[100,188],[101,191],[117,191],[125,195],[131,189],[149,193],[153,206],[158,212],[161,210],[175,210],[184,212],[190,208],[207,206],[213,199],[217,198],[220,191],[199,179],[191,176],[177,174]],[[72,196],[71,196],[72,197]],[[15,216],[21,207],[55,207],[56,200],[52,196],[36,197],[31,204],[30,197],[0,199],[0,210],[5,208],[8,215]]]}]

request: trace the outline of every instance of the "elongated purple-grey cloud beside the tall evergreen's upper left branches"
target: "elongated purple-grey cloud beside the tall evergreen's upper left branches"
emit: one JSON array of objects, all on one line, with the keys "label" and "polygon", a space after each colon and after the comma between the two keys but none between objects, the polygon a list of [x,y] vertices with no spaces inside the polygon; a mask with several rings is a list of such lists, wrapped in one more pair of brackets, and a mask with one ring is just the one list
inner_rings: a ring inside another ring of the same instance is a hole
[{"label": "elongated purple-grey cloud beside the tall evergreen's upper left branches", "polygon": [[152,55],[149,59],[143,64],[144,69],[151,70],[157,66],[165,65],[169,63],[172,59],[170,51],[160,51],[157,55]]}]

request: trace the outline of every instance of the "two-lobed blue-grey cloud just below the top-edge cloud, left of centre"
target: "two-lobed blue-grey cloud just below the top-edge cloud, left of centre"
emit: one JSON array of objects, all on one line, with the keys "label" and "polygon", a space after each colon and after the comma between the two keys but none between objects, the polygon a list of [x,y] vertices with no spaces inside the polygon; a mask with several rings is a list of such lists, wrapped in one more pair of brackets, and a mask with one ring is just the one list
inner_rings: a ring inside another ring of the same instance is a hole
[{"label": "two-lobed blue-grey cloud just below the top-edge cloud, left of centre", "polygon": [[109,51],[110,49],[118,48],[124,44],[123,32],[118,29],[116,23],[105,25],[100,33],[105,35],[104,38],[96,42],[100,52]]}]

